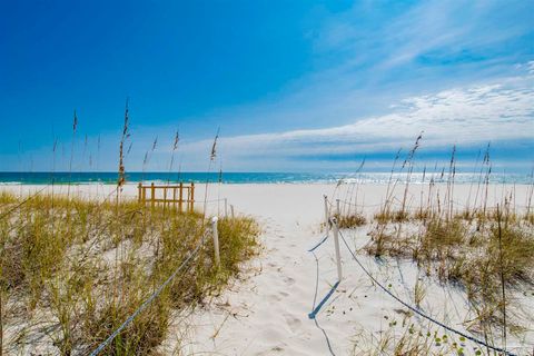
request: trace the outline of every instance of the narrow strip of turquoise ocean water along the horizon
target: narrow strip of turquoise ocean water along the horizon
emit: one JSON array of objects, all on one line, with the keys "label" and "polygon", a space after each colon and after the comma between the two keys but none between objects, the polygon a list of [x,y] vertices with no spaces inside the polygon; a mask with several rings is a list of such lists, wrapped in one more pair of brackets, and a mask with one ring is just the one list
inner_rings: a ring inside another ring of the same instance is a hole
[{"label": "narrow strip of turquoise ocean water along the horizon", "polygon": [[[194,181],[225,184],[300,184],[300,182],[374,182],[387,184],[390,172],[127,172],[127,182],[176,182]],[[405,180],[406,174],[396,172],[393,179]],[[427,184],[431,179],[435,182],[446,182],[447,174],[414,172],[411,178],[413,184]],[[473,172],[457,172],[454,177],[456,184],[483,181],[484,176]],[[492,174],[492,184],[533,184],[530,174]],[[117,172],[1,172],[0,185],[49,185],[49,184],[116,184]]]}]

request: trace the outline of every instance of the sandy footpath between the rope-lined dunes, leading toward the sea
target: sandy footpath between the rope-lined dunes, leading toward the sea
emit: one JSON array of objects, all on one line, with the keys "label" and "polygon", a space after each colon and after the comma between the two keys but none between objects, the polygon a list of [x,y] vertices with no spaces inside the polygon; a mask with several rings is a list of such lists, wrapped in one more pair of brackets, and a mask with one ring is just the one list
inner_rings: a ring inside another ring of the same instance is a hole
[{"label": "sandy footpath between the rope-lined dunes, leading toward the sea", "polygon": [[195,333],[189,350],[326,355],[326,343],[307,317],[314,297],[315,259],[306,248],[319,239],[322,196],[330,187],[317,187],[314,194],[303,189],[303,199],[298,200],[293,199],[298,186],[233,188],[221,187],[225,191],[220,195],[260,221],[265,249],[247,280],[237,281],[219,298],[221,307],[192,317]]}]

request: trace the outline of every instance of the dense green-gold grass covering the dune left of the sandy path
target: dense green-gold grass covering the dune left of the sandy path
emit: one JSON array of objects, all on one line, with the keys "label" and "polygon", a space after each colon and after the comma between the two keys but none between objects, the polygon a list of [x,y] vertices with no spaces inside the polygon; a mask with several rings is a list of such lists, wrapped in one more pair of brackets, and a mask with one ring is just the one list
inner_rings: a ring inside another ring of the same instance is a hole
[{"label": "dense green-gold grass covering the dune left of the sandy path", "polygon": [[[22,198],[2,194],[0,216]],[[210,236],[149,307],[105,349],[146,355],[167,336],[172,310],[220,289],[256,251],[250,218],[219,220],[221,265]],[[207,233],[202,215],[34,196],[0,219],[3,349],[87,354],[131,315],[195,250]]]}]

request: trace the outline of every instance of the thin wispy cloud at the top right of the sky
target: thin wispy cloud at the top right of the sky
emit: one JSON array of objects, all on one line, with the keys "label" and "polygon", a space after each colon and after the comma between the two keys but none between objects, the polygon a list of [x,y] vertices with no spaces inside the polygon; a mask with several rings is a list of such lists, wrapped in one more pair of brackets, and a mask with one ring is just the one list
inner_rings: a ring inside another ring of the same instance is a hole
[{"label": "thin wispy cloud at the top right of the sky", "polygon": [[[491,60],[502,51],[500,44],[532,32],[524,17],[532,10],[532,3],[522,1],[422,1],[379,21],[383,12],[394,12],[390,7],[380,9],[360,2],[325,23],[316,38],[316,48],[318,52],[349,53],[348,66],[382,70],[425,55],[454,57],[473,52]],[[379,24],[363,27],[362,21],[369,19]]]}]

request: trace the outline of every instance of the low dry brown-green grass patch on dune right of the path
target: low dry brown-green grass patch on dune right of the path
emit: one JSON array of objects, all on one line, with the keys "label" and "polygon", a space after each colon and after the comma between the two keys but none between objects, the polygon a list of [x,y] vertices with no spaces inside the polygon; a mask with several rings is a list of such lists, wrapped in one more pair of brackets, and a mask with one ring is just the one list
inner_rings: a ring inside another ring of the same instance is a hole
[{"label": "low dry brown-green grass patch on dune right of the path", "polygon": [[504,288],[534,284],[534,230],[513,215],[471,220],[434,215],[427,221],[407,224],[400,231],[396,224],[378,224],[366,250],[375,256],[412,258],[428,275],[465,288],[468,300],[478,308],[479,323],[506,324]]}]

